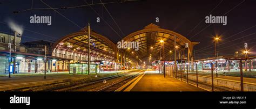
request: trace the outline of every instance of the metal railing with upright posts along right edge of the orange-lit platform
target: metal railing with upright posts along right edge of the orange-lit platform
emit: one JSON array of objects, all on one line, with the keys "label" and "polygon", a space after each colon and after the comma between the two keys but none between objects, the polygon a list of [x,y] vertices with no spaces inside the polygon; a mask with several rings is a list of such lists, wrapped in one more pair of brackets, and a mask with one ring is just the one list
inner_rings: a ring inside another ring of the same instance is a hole
[{"label": "metal railing with upright posts along right edge of the orange-lit platform", "polygon": [[210,72],[199,71],[197,63],[193,68],[195,69],[188,69],[187,64],[185,66],[177,64],[177,67],[167,66],[166,76],[208,91],[256,91],[256,72],[254,71],[244,71],[240,68],[240,71],[230,71],[216,77],[212,63]]}]

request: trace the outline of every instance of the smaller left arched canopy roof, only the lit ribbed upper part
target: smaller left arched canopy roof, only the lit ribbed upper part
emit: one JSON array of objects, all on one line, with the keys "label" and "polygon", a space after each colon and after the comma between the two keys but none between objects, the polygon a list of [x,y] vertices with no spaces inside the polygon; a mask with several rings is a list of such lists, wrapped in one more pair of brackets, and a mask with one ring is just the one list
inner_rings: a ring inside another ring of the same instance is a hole
[{"label": "smaller left arched canopy roof, only the lit ribbed upper part", "polygon": [[[76,53],[87,53],[88,49],[88,33],[87,28],[71,33],[58,40],[54,48],[76,51]],[[52,50],[53,50],[52,49]],[[111,57],[114,59],[116,45],[103,35],[90,31],[90,53],[91,55]]]}]

